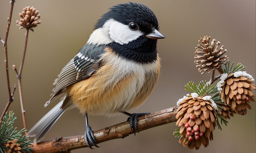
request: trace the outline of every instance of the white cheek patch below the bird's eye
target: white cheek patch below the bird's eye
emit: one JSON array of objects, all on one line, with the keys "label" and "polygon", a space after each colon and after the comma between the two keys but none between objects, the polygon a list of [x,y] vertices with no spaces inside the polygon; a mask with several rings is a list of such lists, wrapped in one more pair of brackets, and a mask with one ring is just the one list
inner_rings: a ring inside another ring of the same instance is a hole
[{"label": "white cheek patch below the bird's eye", "polygon": [[132,31],[127,25],[124,25],[114,19],[111,19],[108,22],[112,22],[109,27],[110,38],[121,45],[128,44],[143,35],[140,30]]}]

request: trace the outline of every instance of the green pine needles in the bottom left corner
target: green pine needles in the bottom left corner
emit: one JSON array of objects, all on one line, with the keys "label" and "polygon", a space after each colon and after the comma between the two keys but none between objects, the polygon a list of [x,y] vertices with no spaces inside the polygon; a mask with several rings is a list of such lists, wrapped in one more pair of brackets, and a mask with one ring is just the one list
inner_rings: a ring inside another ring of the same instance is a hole
[{"label": "green pine needles in the bottom left corner", "polygon": [[0,153],[4,153],[4,150],[8,150],[7,147],[5,147],[3,144],[6,143],[8,140],[17,140],[16,143],[20,144],[20,152],[31,153],[30,147],[28,145],[31,145],[33,141],[28,140],[28,137],[25,137],[22,135],[26,131],[26,129],[21,129],[20,131],[17,131],[17,127],[13,127],[14,120],[17,117],[14,117],[14,113],[12,111],[6,112],[3,120],[0,121],[0,124],[2,123],[0,127]]}]

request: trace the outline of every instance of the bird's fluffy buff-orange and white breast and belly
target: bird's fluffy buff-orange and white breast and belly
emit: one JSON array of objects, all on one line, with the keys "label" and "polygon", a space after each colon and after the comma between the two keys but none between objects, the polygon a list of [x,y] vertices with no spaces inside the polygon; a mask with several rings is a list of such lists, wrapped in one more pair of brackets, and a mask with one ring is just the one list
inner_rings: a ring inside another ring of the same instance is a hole
[{"label": "bird's fluffy buff-orange and white breast and belly", "polygon": [[159,58],[150,64],[138,64],[106,48],[101,60],[102,66],[89,79],[67,87],[82,113],[111,114],[139,106],[156,85]]}]

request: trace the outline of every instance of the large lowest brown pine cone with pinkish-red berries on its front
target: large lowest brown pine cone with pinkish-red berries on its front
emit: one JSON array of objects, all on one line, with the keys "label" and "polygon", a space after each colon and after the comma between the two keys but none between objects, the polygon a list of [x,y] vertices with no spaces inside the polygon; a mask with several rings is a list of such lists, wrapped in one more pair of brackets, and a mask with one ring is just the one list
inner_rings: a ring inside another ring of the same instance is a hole
[{"label": "large lowest brown pine cone with pinkish-red berries on its front", "polygon": [[202,97],[188,95],[179,104],[176,115],[176,125],[182,135],[179,143],[190,149],[199,149],[201,145],[207,147],[209,139],[213,140],[212,132],[216,127],[217,116],[212,103]]}]

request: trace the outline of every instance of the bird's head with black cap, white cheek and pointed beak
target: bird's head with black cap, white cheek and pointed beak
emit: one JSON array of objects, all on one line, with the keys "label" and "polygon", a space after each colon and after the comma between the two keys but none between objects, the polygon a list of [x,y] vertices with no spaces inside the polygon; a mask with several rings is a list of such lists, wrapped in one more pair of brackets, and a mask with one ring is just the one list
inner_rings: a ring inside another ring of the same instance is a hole
[{"label": "bird's head with black cap, white cheek and pointed beak", "polygon": [[[88,43],[124,45],[140,39],[138,46],[145,41],[156,43],[165,38],[158,32],[158,20],[147,6],[139,3],[118,4],[103,14],[95,26]],[[150,40],[149,40],[150,39]]]}]

